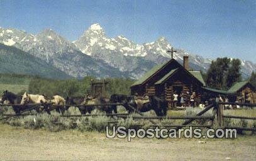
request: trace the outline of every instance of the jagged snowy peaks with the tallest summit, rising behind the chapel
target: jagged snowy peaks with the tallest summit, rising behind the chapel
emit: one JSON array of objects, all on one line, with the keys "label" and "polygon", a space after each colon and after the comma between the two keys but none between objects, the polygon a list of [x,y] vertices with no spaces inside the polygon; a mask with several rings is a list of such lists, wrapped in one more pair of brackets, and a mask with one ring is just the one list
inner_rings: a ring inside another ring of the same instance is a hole
[{"label": "jagged snowy peaks with the tallest summit, rising behind the chapel", "polygon": [[[131,72],[132,77],[135,78],[140,77],[153,65],[162,64],[171,58],[167,50],[170,50],[172,45],[164,37],[160,37],[155,42],[138,45],[125,38],[125,36],[108,38],[103,28],[97,23],[84,31],[83,35],[74,43],[83,53],[103,60],[123,72]],[[211,64],[211,60],[208,58],[184,50],[176,50],[177,52],[174,53],[173,57],[182,63],[183,56],[189,55],[190,67],[194,70],[206,71]],[[145,60],[149,62],[147,65],[142,65]],[[152,62],[151,65],[150,62]],[[138,72],[139,69],[142,72]],[[137,71],[136,74],[133,72],[135,70]],[[244,77],[249,77],[252,71],[255,70],[256,64],[242,60],[242,74]]]}]

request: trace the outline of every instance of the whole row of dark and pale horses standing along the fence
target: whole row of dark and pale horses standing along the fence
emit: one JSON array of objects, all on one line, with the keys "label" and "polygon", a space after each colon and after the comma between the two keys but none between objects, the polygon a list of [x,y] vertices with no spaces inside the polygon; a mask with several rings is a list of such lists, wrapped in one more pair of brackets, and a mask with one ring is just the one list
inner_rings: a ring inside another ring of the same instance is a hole
[{"label": "whole row of dark and pale horses standing along the fence", "polygon": [[[55,95],[53,97],[47,97],[39,94],[28,94],[25,92],[23,96],[18,96],[13,92],[4,91],[3,97],[1,98],[1,104],[14,104],[13,110],[16,114],[20,114],[21,111],[31,109],[28,104],[40,104],[34,109],[37,113],[46,111],[50,114],[50,111],[56,110],[58,113],[64,113],[68,110],[70,105],[77,106],[81,114],[91,113],[95,108],[109,113],[117,113],[116,103],[121,103],[128,113],[134,111],[146,112],[153,110],[157,116],[165,116],[167,113],[167,102],[159,99],[155,96],[148,96],[148,101],[142,101],[137,99],[135,96],[127,96],[123,94],[113,94],[110,99],[105,97],[69,97],[65,99],[62,96]],[[101,104],[97,106],[97,104]],[[108,105],[109,104],[109,105]],[[85,106],[83,106],[85,105]],[[90,106],[91,105],[91,106]]]}]

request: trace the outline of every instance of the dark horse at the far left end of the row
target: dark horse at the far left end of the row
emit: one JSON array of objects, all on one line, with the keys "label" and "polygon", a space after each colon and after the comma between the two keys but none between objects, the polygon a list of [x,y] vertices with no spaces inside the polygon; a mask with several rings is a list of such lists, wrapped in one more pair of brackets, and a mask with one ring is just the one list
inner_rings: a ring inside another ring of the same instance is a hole
[{"label": "dark horse at the far left end of the row", "polygon": [[[9,91],[4,91],[3,93],[3,97],[2,97],[2,102],[4,103],[4,101],[9,101],[10,104],[20,104],[21,103],[21,98],[22,96],[18,96],[16,94],[14,94],[13,92],[9,92]],[[24,106],[13,106],[13,111],[16,114],[20,114],[21,111],[25,110],[25,109],[29,109],[30,107],[24,105]]]}]

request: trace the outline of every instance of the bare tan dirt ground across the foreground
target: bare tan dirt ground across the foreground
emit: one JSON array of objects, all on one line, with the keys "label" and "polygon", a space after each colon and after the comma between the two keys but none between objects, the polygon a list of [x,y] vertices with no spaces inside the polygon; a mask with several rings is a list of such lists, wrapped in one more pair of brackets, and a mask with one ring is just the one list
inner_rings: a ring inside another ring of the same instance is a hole
[{"label": "bare tan dirt ground across the foreground", "polygon": [[256,136],[235,140],[108,139],[104,133],[26,130],[0,124],[1,160],[255,160]]}]

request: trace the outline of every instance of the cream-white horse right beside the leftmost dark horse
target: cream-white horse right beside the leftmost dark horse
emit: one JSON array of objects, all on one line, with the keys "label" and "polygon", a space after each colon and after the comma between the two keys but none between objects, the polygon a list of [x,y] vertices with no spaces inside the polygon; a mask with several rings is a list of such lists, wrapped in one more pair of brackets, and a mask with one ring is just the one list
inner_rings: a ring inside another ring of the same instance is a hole
[{"label": "cream-white horse right beside the leftmost dark horse", "polygon": [[43,103],[46,104],[47,100],[45,99],[45,96],[39,95],[39,94],[28,94],[24,93],[21,99],[20,104],[28,104],[28,103]]}]

